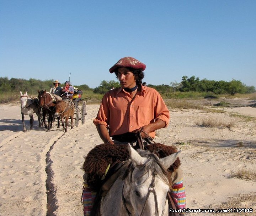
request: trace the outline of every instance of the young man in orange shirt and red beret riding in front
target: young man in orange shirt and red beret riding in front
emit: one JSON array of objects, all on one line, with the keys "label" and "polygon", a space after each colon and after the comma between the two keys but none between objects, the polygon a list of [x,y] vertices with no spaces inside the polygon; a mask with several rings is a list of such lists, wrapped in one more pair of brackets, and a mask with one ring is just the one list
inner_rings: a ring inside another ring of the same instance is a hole
[{"label": "young man in orange shirt and red beret riding in front", "polygon": [[[133,57],[121,58],[110,68],[121,87],[103,96],[94,119],[104,143],[129,143],[136,148],[138,132],[143,144],[147,145],[149,137],[155,137],[155,130],[167,127],[170,115],[162,97],[155,89],[142,85],[145,68],[145,64]],[[185,208],[184,202],[177,208]]]}]

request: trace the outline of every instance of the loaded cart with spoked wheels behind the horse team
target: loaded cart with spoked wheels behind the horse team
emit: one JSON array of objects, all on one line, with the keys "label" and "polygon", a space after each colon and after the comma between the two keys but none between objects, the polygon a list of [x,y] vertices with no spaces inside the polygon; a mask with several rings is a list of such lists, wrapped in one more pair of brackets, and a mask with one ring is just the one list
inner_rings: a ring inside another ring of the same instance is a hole
[{"label": "loaded cart with spoked wheels behind the horse team", "polygon": [[[86,113],[86,101],[87,99],[91,99],[90,97],[82,99],[82,91],[81,90],[75,90],[74,96],[73,96],[73,102],[75,104],[75,124],[76,127],[78,127],[79,120],[81,120],[81,123],[85,123],[85,115]],[[79,104],[82,102],[82,106],[80,108]]]}]

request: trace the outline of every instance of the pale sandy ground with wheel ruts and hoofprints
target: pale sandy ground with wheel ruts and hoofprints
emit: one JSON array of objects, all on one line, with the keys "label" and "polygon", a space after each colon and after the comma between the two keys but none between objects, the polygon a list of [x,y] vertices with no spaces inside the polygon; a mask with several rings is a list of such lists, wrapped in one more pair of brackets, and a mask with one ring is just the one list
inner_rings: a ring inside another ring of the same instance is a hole
[{"label": "pale sandy ground with wheel ruts and hoofprints", "polygon": [[[56,123],[49,132],[39,128],[36,117],[34,130],[23,133],[20,106],[0,105],[1,216],[83,215],[81,166],[89,150],[102,143],[92,123],[98,108],[87,105],[85,124],[66,133]],[[188,209],[251,208],[253,213],[186,215],[256,215],[256,180],[231,175],[242,168],[256,171],[256,120],[244,117],[256,118],[256,108],[223,110],[170,109],[170,124],[157,131],[155,141],[182,149]],[[198,126],[208,118],[234,126]]]}]

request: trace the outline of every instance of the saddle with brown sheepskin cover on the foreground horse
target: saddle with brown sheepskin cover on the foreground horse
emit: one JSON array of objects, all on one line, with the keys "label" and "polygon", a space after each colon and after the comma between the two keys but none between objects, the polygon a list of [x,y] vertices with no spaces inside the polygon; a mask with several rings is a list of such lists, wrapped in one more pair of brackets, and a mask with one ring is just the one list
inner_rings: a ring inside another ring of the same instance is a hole
[{"label": "saddle with brown sheepskin cover on the foreground horse", "polygon": [[[150,137],[151,138],[151,137]],[[151,138],[151,140],[153,140]],[[138,136],[139,147],[149,152],[155,153],[159,158],[164,158],[170,154],[177,152],[177,149],[172,146],[166,146],[161,143],[152,143],[144,146],[141,135]],[[93,148],[86,156],[82,169],[87,174],[87,184],[92,190],[97,191],[94,205],[90,215],[98,215],[100,210],[100,200],[104,197],[107,191],[111,188],[116,179],[121,175],[121,171],[128,166],[124,161],[129,158],[127,144],[109,145],[100,144]],[[178,169],[181,162],[177,158],[176,161],[168,168],[172,172],[172,177],[175,183],[182,176],[182,171]],[[108,169],[107,173],[106,170]],[[169,197],[169,198],[168,198]],[[172,198],[167,196],[170,208],[176,209]]]}]

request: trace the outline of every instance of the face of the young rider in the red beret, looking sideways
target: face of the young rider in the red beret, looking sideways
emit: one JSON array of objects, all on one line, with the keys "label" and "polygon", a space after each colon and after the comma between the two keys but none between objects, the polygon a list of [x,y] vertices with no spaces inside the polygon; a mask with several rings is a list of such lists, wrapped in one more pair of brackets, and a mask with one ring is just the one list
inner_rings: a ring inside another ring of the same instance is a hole
[{"label": "face of the young rider in the red beret, looking sideways", "polygon": [[118,80],[122,88],[133,88],[136,85],[134,74],[128,68],[118,68]]}]

